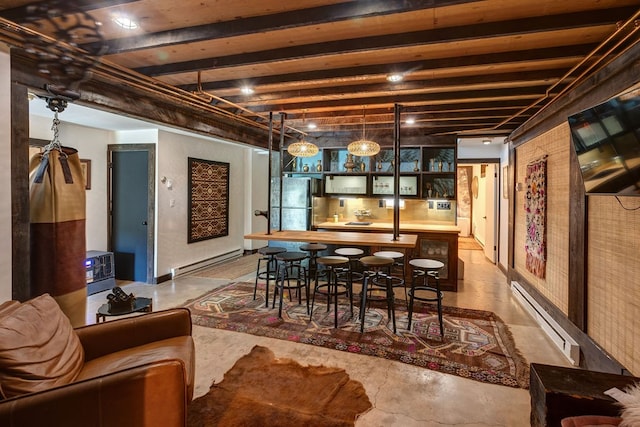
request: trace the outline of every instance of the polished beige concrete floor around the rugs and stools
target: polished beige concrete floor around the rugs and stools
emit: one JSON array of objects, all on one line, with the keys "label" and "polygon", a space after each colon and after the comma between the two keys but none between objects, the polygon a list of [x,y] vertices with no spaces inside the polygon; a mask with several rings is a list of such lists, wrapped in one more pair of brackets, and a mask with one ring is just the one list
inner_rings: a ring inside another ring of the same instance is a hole
[{"label": "polished beige concrete floor around the rugs and stools", "polygon": [[[482,251],[461,250],[460,258],[465,263],[465,278],[459,282],[457,293],[446,293],[445,305],[493,311],[509,325],[516,346],[530,363],[569,366],[564,355],[519,306],[502,272],[486,260]],[[253,277],[249,274],[239,280]],[[159,285],[127,284],[123,289],[153,298],[154,310],[162,310],[180,306],[228,282],[187,276]],[[87,323],[95,323],[95,312],[106,302],[107,293],[88,298]],[[371,356],[200,326],[194,326],[193,336],[196,397],[206,393],[213,382],[221,381],[224,373],[254,345],[262,345],[276,357],[344,368],[352,379],[360,381],[373,408],[357,420],[359,427],[529,425],[528,390],[484,384]]]}]

